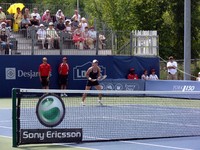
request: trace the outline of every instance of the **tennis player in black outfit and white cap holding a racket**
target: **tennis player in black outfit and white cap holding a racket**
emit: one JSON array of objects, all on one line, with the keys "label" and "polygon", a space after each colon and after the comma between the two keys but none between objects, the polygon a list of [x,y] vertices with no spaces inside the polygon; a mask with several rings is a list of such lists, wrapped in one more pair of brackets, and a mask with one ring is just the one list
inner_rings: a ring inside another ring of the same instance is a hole
[{"label": "tennis player in black outfit and white cap holding a racket", "polygon": [[[90,90],[92,86],[94,86],[97,90],[101,90],[101,86],[99,85],[98,79],[101,77],[101,69],[98,66],[98,60],[94,59],[92,61],[92,66],[88,68],[86,72],[87,84],[85,86],[85,90]],[[84,93],[82,96],[82,105],[85,106],[85,98],[87,94]],[[99,104],[102,105],[101,102],[102,95],[99,94]]]}]

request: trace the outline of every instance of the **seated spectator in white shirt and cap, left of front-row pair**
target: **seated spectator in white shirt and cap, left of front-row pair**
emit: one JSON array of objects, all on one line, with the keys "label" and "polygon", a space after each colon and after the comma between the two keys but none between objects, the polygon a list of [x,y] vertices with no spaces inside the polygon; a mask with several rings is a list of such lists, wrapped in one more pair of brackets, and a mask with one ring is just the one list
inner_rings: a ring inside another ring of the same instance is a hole
[{"label": "seated spectator in white shirt and cap, left of front-row pair", "polygon": [[40,24],[40,28],[37,31],[37,39],[42,41],[42,49],[45,49],[45,41],[47,39],[47,31],[43,24]]}]

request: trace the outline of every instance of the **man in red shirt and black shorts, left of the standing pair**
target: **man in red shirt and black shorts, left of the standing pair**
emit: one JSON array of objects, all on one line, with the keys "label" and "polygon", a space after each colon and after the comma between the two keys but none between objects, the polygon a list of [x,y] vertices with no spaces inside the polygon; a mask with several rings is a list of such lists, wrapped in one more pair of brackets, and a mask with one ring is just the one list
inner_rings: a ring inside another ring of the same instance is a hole
[{"label": "man in red shirt and black shorts, left of the standing pair", "polygon": [[43,89],[49,89],[49,77],[51,74],[51,66],[47,63],[47,58],[42,59],[43,63],[39,66],[39,77]]}]

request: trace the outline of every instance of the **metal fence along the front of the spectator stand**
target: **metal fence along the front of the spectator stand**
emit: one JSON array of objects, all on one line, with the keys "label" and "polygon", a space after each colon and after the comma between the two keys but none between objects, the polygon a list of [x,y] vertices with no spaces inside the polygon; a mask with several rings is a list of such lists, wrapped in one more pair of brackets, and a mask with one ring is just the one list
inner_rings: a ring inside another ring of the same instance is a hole
[{"label": "metal fence along the front of the spectator stand", "polygon": [[[57,31],[60,40],[54,49],[43,49],[42,42],[37,39],[37,28],[29,27],[13,31],[11,42],[14,44],[12,55],[158,55],[158,45],[145,45],[141,39],[158,38],[157,36],[135,35],[134,32],[98,31],[96,37],[103,35],[105,39],[96,39],[94,48],[76,47],[72,35],[67,32]],[[138,40],[139,39],[139,40]],[[55,43],[56,44],[56,43]],[[83,44],[83,43],[82,43]],[[148,51],[141,53],[144,49]],[[154,49],[154,51],[151,51]],[[1,52],[1,54],[5,54]]]}]

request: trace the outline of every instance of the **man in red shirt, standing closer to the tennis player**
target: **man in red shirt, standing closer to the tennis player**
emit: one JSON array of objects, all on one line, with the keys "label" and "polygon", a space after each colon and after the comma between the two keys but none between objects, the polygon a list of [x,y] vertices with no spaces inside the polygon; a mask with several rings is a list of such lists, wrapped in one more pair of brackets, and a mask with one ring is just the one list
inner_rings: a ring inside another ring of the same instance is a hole
[{"label": "man in red shirt, standing closer to the tennis player", "polygon": [[[58,68],[59,73],[59,82],[61,90],[67,88],[67,81],[68,81],[68,73],[69,73],[69,65],[67,63],[67,57],[63,57],[62,63],[59,65]],[[62,93],[61,96],[67,96],[67,94]]]}]

